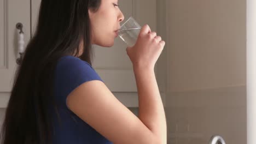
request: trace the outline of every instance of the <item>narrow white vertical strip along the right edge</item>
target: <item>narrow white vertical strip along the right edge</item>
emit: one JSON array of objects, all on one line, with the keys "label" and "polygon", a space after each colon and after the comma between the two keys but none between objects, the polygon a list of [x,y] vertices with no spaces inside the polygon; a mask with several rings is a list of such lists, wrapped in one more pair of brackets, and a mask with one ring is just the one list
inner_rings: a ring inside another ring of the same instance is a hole
[{"label": "narrow white vertical strip along the right edge", "polygon": [[247,143],[256,143],[256,1],[247,0]]}]

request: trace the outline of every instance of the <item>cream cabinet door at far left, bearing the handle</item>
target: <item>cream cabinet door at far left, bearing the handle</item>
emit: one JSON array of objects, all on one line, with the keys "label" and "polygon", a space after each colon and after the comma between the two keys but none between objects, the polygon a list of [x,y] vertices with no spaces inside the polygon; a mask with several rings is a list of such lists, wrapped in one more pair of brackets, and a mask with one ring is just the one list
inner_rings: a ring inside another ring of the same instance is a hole
[{"label": "cream cabinet door at far left, bearing the handle", "polygon": [[13,85],[18,53],[18,29],[23,25],[25,46],[30,39],[30,0],[0,0],[0,95]]}]

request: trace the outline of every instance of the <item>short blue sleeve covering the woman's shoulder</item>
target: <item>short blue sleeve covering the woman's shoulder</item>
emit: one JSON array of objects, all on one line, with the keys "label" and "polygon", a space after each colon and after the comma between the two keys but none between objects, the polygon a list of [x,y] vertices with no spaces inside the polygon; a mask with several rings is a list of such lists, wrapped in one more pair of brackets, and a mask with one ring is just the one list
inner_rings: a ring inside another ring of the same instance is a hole
[{"label": "short blue sleeve covering the woman's shoulder", "polygon": [[68,94],[82,83],[92,80],[102,81],[89,63],[73,56],[61,57],[55,69],[56,103],[67,107]]}]

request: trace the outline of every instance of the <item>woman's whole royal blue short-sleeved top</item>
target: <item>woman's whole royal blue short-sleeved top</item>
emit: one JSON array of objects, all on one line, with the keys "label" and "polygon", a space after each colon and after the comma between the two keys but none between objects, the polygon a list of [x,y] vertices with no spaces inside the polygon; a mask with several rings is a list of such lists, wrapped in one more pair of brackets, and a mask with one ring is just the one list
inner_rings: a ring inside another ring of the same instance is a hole
[{"label": "woman's whole royal blue short-sleeved top", "polygon": [[73,56],[63,56],[57,62],[54,91],[55,103],[59,105],[59,115],[53,112],[53,143],[112,143],[75,115],[66,105],[67,95],[82,83],[91,80],[102,81],[89,63]]}]

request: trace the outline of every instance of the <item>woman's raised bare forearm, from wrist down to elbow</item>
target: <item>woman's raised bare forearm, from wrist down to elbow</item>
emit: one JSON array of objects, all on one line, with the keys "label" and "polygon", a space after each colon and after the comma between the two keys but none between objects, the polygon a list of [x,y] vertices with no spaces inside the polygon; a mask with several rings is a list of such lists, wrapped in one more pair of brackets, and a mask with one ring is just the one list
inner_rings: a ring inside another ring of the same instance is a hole
[{"label": "woman's raised bare forearm, from wrist down to elbow", "polygon": [[136,67],[133,70],[139,96],[138,117],[161,140],[161,143],[167,143],[165,111],[154,69]]}]

